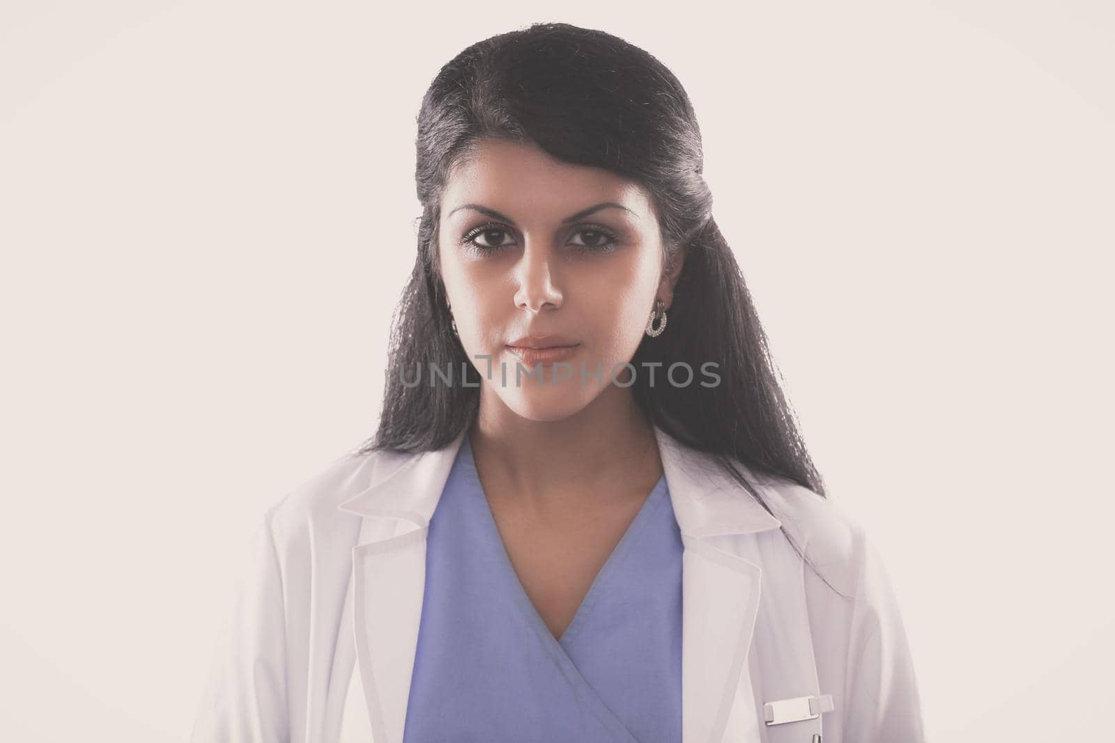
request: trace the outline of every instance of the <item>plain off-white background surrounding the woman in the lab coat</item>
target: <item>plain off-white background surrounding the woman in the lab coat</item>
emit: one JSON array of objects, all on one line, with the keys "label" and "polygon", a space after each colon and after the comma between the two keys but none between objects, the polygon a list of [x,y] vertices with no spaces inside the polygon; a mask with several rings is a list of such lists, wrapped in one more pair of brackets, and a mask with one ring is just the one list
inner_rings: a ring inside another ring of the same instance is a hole
[{"label": "plain off-white background surrounding the woman in the lab coat", "polygon": [[262,511],[370,436],[415,115],[534,21],[701,123],[934,741],[1108,739],[1111,3],[0,6],[0,735],[183,741]]}]

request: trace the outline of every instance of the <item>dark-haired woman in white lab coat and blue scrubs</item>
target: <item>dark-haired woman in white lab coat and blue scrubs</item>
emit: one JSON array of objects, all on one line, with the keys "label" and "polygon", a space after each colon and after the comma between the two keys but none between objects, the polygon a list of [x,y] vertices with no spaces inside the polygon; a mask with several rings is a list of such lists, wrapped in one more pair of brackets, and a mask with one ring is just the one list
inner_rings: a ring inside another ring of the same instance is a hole
[{"label": "dark-haired woman in white lab coat and blue scrubs", "polygon": [[496,36],[417,150],[378,431],[268,510],[194,740],[921,741],[675,76]]}]

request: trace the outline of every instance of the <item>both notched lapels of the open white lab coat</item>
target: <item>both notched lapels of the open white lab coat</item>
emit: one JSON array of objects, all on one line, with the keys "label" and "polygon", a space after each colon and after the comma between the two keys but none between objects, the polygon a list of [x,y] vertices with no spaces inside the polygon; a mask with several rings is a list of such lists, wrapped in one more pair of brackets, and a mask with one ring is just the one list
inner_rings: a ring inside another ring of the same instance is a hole
[{"label": "both notched lapels of the open white lab coat", "polygon": [[[763,570],[754,545],[738,537],[779,521],[710,456],[659,428],[655,434],[685,547],[682,741],[715,743],[730,722],[734,734],[746,731],[738,740],[759,743],[760,712],[746,667]],[[352,549],[352,618],[358,681],[376,743],[403,741],[429,519],[465,436],[404,459],[339,506],[363,517]]]}]

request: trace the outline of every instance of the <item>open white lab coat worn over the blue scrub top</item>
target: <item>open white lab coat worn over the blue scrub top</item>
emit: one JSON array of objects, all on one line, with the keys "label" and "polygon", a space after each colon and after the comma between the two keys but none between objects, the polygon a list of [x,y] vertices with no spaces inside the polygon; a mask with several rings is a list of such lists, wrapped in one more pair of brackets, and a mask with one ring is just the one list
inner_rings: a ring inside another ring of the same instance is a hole
[{"label": "open white lab coat worn over the blue scrub top", "polygon": [[[682,742],[923,741],[899,607],[863,529],[744,468],[773,518],[707,454],[655,433],[685,546]],[[193,743],[401,743],[427,525],[464,436],[338,459],[268,509]]]}]

